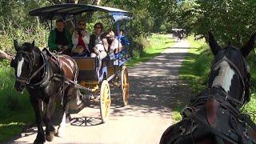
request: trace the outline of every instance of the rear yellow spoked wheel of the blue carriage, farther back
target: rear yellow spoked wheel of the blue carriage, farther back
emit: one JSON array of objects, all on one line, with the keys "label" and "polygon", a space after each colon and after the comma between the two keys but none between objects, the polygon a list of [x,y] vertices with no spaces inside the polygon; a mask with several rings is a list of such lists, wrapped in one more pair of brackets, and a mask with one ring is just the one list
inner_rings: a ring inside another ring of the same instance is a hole
[{"label": "rear yellow spoked wheel of the blue carriage, farther back", "polygon": [[129,99],[129,78],[128,71],[126,66],[122,67],[122,75],[121,75],[121,87],[122,87],[122,102],[123,106],[128,104]]}]

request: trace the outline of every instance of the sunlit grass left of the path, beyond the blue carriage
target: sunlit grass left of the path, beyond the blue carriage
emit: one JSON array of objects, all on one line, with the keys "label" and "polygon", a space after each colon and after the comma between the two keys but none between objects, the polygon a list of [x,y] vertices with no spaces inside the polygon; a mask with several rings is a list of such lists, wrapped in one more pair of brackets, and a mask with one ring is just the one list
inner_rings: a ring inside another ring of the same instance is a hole
[{"label": "sunlit grass left of the path, beyond the blue carriage", "polygon": [[[174,44],[174,39],[170,39],[170,34],[153,34],[150,40],[141,39],[142,45],[145,46],[142,52],[137,50],[134,51],[134,58],[131,58],[129,62],[126,63],[126,66],[135,66],[139,62],[146,62],[150,58],[154,58],[162,53],[163,50],[172,46]],[[140,54],[140,56],[138,53]]]}]

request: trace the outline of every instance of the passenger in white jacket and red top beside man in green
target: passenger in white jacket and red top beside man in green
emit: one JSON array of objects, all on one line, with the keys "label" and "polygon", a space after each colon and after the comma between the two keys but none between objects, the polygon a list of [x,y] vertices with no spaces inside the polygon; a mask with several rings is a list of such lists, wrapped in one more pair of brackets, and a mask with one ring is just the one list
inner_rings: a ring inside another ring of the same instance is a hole
[{"label": "passenger in white jacket and red top beside man in green", "polygon": [[78,28],[74,30],[72,35],[72,55],[78,57],[89,57],[89,42],[90,42],[90,34],[86,31],[86,22],[79,21]]}]

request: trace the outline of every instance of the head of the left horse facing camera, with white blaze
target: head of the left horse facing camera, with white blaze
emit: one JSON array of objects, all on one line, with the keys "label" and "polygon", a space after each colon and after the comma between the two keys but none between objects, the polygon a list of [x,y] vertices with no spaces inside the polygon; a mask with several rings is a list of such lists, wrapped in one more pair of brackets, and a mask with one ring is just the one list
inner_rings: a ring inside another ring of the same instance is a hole
[{"label": "head of the left horse facing camera, with white blaze", "polygon": [[34,41],[32,43],[25,42],[20,46],[18,41],[14,40],[14,48],[17,53],[11,60],[10,66],[15,70],[16,82],[14,87],[18,92],[22,92],[30,83],[30,76],[36,66],[39,65],[40,50],[34,46]]}]

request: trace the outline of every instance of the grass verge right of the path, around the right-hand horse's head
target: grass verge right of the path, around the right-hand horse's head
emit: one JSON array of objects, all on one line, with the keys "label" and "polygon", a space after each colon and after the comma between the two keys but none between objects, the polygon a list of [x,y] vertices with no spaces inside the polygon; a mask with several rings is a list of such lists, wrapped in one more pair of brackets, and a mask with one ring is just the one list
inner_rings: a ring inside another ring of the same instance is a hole
[{"label": "grass verge right of the path, around the right-hand horse's head", "polygon": [[[208,45],[203,40],[195,41],[193,37],[189,37],[190,50],[182,62],[182,68],[179,73],[179,78],[191,88],[193,94],[198,94],[201,90],[206,88],[208,74],[210,72],[213,54]],[[256,68],[254,66],[255,58],[247,58],[250,65],[250,73],[252,80],[251,100],[245,106],[245,112],[256,114]],[[183,106],[174,105],[173,118],[176,122],[181,120],[179,112]],[[256,122],[256,119],[254,120]]]}]

